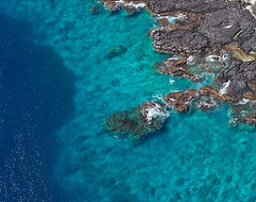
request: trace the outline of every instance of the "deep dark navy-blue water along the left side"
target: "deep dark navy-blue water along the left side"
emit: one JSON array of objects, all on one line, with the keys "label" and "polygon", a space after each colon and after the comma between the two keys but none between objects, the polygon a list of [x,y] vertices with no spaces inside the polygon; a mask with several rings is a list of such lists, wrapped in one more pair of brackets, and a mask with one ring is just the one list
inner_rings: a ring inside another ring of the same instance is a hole
[{"label": "deep dark navy-blue water along the left side", "polygon": [[54,132],[72,118],[76,78],[52,48],[33,43],[33,24],[0,13],[0,29],[0,200],[65,201],[51,179]]}]

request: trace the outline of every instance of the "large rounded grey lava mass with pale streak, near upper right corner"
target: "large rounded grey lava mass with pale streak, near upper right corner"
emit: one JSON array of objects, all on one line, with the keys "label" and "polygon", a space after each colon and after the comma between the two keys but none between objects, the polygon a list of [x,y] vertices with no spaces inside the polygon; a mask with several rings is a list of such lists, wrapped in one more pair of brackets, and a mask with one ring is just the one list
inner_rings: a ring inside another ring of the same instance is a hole
[{"label": "large rounded grey lava mass with pale streak, near upper right corner", "polygon": [[201,18],[200,33],[216,44],[229,44],[237,40],[247,54],[256,49],[256,19],[239,6],[207,13]]}]

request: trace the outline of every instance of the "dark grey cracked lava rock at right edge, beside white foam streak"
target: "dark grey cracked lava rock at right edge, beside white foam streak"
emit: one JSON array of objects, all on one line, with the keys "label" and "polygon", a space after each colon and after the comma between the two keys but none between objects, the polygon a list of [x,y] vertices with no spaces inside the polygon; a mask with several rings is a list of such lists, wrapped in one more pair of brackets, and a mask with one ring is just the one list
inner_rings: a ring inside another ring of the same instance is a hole
[{"label": "dark grey cracked lava rock at right edge, beside white foam streak", "polygon": [[243,62],[231,60],[227,68],[216,76],[216,82],[223,84],[230,82],[227,86],[227,96],[233,101],[247,98],[256,99],[256,61]]}]

